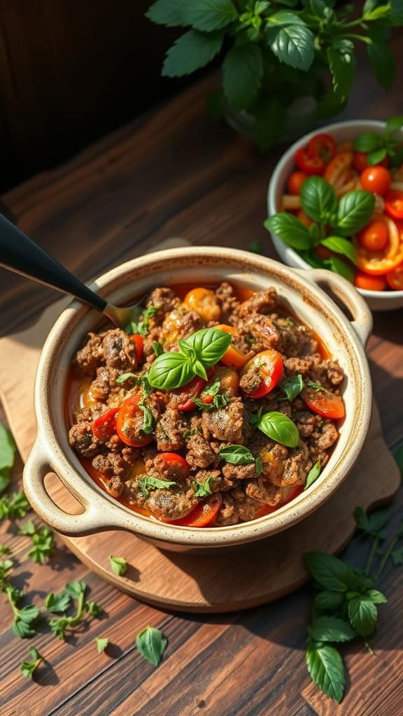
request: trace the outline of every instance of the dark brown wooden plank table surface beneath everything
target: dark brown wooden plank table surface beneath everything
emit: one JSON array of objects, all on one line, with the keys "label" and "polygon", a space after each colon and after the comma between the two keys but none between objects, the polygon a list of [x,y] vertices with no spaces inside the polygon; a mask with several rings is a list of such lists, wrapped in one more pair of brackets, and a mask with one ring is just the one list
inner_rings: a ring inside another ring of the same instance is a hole
[{"label": "dark brown wooden plank table surface beneath everything", "polygon": [[[401,42],[401,41],[400,41]],[[396,41],[397,48],[398,40]],[[402,55],[402,53],[400,53]],[[402,87],[403,57],[396,87]],[[244,137],[209,121],[205,97],[214,77],[194,84],[160,110],[85,150],[75,160],[11,190],[3,200],[19,226],[90,279],[170,236],[196,245],[247,248],[261,241],[275,256],[262,221],[270,172],[281,149],[261,157]],[[402,113],[400,90],[387,94],[359,70],[350,117]],[[0,269],[1,334],[32,322],[55,294]],[[369,360],[384,434],[403,440],[402,311],[374,316]],[[24,406],[22,406],[24,410]],[[15,466],[14,480],[22,463]],[[381,479],[379,475],[379,479]],[[401,511],[402,491],[394,502]],[[403,572],[389,568],[381,588],[379,633],[371,656],[343,648],[349,679],[340,706],[323,696],[305,669],[304,644],[313,599],[307,586],[273,604],[228,616],[169,614],[120,594],[60,545],[45,566],[27,560],[27,538],[0,526],[12,544],[19,586],[34,601],[85,579],[105,618],[60,642],[43,632],[13,637],[10,609],[0,600],[1,716],[401,716]],[[359,562],[359,543],[348,556]],[[135,648],[147,624],[163,629],[169,646],[155,669]],[[109,637],[108,655],[93,639]],[[34,645],[46,659],[29,682],[19,662]]]}]

